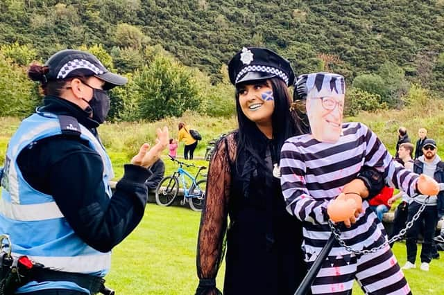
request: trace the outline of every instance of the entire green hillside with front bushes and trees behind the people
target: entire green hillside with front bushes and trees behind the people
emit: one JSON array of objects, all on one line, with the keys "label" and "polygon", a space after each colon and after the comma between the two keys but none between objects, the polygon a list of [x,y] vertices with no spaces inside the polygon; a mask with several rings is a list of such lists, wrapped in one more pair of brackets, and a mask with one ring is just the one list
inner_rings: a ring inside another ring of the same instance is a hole
[{"label": "entire green hillside with front bushes and trees behind the people", "polygon": [[242,46],[345,75],[349,115],[444,91],[444,0],[4,0],[0,19],[0,116],[40,103],[25,66],[62,48],[128,76],[110,120],[232,116],[225,64]]}]

